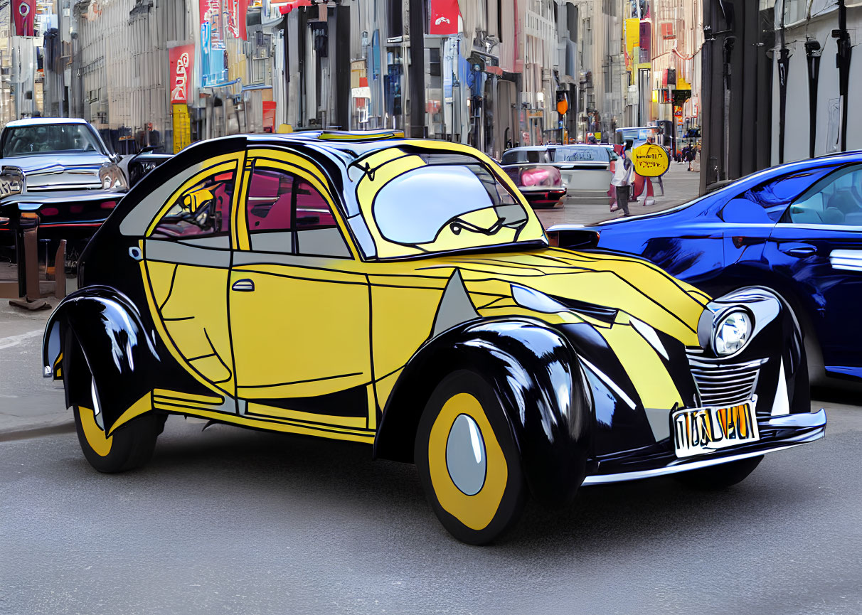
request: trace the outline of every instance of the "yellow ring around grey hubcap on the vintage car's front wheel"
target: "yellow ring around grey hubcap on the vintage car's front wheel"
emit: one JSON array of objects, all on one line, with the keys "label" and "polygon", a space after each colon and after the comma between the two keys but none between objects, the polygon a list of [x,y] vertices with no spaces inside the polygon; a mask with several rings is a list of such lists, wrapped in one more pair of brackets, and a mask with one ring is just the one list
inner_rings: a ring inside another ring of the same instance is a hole
[{"label": "yellow ring around grey hubcap on the vintage car's front wheel", "polygon": [[[485,478],[474,495],[465,494],[455,485],[447,467],[449,432],[461,414],[475,421],[484,442]],[[490,524],[503,500],[509,467],[482,404],[472,394],[454,395],[437,414],[428,437],[428,469],[434,495],[443,510],[472,530],[482,530]]]}]

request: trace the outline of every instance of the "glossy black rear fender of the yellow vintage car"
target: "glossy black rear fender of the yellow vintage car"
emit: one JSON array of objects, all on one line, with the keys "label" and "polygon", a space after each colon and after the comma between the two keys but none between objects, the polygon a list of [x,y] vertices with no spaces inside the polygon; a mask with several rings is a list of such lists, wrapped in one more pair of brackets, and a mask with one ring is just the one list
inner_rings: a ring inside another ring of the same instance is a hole
[{"label": "glossy black rear fender of the yellow vintage car", "polygon": [[42,375],[64,380],[67,407],[89,391],[89,383],[72,386],[71,375],[64,373],[76,368],[74,361],[84,360],[98,383],[106,429],[151,390],[148,375],[161,359],[144,321],[126,295],[107,286],[88,286],[60,302],[45,327]]}]

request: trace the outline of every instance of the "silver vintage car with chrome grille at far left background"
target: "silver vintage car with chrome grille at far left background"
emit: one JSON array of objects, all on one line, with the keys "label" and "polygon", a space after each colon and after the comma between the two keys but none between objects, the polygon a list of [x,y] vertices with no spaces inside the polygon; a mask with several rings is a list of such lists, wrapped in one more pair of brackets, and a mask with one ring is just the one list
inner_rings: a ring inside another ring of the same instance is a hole
[{"label": "silver vintage car with chrome grille at far left background", "polygon": [[51,190],[124,190],[128,183],[119,161],[87,121],[10,121],[0,134],[0,198]]}]

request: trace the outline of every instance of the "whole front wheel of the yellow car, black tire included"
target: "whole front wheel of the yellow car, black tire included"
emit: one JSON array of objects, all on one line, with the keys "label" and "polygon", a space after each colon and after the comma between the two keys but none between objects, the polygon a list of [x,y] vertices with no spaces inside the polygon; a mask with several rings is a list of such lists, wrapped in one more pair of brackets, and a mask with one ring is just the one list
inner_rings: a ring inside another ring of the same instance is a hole
[{"label": "whole front wheel of the yellow car, black tire included", "polygon": [[[465,429],[472,448],[459,447]],[[521,456],[497,395],[478,374],[455,371],[434,388],[416,431],[414,459],[428,502],[460,541],[488,544],[520,519],[527,498]],[[466,479],[474,487],[465,487]]]}]

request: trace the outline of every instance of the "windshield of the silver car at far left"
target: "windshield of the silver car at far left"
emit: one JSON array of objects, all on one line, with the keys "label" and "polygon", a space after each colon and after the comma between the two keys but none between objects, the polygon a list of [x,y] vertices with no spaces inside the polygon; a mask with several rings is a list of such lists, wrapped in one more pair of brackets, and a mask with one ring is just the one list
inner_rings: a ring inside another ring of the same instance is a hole
[{"label": "windshield of the silver car at far left", "polygon": [[3,158],[57,152],[105,153],[86,124],[7,127],[3,133]]}]

